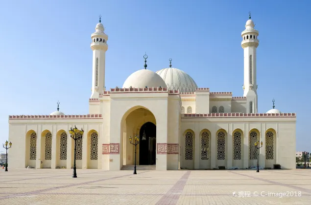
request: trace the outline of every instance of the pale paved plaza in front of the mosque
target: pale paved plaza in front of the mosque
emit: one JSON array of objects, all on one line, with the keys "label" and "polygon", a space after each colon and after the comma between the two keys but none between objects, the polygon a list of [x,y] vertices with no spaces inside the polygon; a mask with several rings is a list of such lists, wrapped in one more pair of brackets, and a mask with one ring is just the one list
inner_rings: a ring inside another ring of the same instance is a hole
[{"label": "pale paved plaza in front of the mosque", "polygon": [[8,205],[310,205],[311,169],[0,170]]}]

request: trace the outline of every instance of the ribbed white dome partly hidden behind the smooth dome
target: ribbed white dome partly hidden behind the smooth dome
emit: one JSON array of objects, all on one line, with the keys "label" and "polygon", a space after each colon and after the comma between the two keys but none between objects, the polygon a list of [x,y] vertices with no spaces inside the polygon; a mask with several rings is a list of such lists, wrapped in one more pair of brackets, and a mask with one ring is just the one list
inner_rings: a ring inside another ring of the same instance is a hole
[{"label": "ribbed white dome partly hidden behind the smooth dome", "polygon": [[165,81],[170,90],[179,90],[180,92],[194,92],[197,84],[194,80],[182,70],[177,68],[164,68],[156,72]]}]

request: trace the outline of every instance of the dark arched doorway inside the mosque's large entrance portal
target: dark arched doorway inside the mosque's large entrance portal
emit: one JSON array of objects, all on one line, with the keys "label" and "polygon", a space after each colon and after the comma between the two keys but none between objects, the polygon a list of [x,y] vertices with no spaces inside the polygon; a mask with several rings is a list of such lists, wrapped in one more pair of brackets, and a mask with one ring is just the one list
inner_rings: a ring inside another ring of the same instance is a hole
[{"label": "dark arched doorway inside the mosque's large entrance portal", "polygon": [[[157,127],[154,123],[144,123],[140,129],[139,164],[156,164],[156,136]],[[145,136],[145,138],[144,138]]]}]

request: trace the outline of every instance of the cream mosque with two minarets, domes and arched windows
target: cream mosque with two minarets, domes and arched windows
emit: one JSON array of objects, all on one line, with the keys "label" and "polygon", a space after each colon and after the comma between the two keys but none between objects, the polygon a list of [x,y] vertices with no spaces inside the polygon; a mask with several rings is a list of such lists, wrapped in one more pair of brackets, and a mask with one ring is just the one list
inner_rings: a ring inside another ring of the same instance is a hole
[{"label": "cream mosque with two minarets, domes and arched windows", "polygon": [[[92,94],[87,115],[9,116],[10,168],[120,170],[136,163],[156,170],[295,168],[296,114],[274,108],[258,113],[256,50],[259,32],[249,17],[241,33],[243,96],[198,87],[186,72],[147,68],[131,74],[122,88],[105,88],[108,36],[99,20],[91,35]],[[109,69],[109,68],[108,68]],[[69,130],[83,128],[76,143]],[[255,143],[262,142],[257,149]],[[257,159],[258,158],[258,159]]]}]

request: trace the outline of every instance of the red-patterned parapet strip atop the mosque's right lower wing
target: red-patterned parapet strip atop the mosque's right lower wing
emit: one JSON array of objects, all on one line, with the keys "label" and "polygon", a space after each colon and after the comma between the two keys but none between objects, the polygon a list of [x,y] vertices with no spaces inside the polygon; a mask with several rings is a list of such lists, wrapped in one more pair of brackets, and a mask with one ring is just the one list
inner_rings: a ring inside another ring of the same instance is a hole
[{"label": "red-patterned parapet strip atop the mosque's right lower wing", "polygon": [[291,117],[295,118],[296,113],[209,113],[209,114],[184,114],[188,118],[230,118],[230,117]]}]

